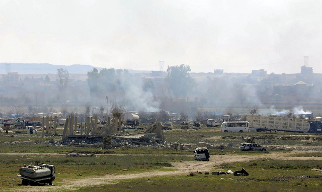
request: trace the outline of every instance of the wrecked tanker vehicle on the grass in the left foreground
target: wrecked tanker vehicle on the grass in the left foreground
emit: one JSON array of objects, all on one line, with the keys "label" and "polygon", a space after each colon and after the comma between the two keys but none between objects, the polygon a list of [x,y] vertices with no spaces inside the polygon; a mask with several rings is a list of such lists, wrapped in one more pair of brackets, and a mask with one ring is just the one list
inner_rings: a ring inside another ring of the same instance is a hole
[{"label": "wrecked tanker vehicle on the grass in the left foreground", "polygon": [[55,179],[55,166],[43,163],[24,165],[19,169],[22,184],[28,185],[29,182],[39,182],[52,185]]}]

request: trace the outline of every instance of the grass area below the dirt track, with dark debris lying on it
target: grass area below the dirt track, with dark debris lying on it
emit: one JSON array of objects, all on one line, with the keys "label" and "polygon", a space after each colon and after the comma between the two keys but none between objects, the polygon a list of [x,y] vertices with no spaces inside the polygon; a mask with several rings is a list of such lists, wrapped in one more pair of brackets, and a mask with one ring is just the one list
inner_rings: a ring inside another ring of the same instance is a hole
[{"label": "grass area below the dirt track, with dark debris lying on it", "polygon": [[[223,164],[219,168],[222,171],[245,168],[250,173],[249,176],[217,176],[210,173],[197,176],[139,178],[122,180],[118,184],[84,187],[77,191],[320,191],[322,175],[310,170],[320,166],[321,162],[316,161],[264,159]],[[301,178],[303,175],[305,176]]]}]

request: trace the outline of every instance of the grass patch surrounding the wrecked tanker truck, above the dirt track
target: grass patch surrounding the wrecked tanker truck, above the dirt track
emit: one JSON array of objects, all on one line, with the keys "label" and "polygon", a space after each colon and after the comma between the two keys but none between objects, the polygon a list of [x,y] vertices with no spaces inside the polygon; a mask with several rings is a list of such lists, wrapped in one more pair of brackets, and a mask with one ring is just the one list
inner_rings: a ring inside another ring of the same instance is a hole
[{"label": "grass patch surrounding the wrecked tanker truck, above the dirt track", "polygon": [[[0,191],[2,187],[18,186],[19,168],[24,164],[42,162],[56,167],[55,184],[65,179],[102,176],[106,174],[128,174],[173,167],[172,162],[188,161],[192,158],[180,155],[140,155],[140,156],[89,156],[65,157],[50,155],[1,155]],[[174,170],[173,168],[169,171]],[[14,181],[12,179],[15,179]]]}]

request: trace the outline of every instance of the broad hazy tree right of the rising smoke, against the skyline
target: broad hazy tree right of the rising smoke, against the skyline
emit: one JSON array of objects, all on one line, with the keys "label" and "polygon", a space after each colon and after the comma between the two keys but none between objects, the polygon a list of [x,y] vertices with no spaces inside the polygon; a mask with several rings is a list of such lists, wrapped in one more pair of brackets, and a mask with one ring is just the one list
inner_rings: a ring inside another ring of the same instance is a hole
[{"label": "broad hazy tree right of the rising smoke, against the skyline", "polygon": [[165,82],[169,92],[175,97],[186,97],[188,91],[196,86],[195,80],[189,75],[190,71],[190,66],[185,64],[168,66],[168,75],[165,78]]}]

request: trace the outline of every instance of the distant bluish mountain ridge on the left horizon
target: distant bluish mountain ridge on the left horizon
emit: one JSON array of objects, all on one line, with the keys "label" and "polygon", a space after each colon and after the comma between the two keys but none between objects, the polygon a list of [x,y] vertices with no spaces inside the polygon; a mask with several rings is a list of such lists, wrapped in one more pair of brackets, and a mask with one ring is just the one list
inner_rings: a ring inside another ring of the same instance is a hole
[{"label": "distant bluish mountain ridge on the left horizon", "polygon": [[[70,74],[87,74],[88,71],[93,70],[94,66],[91,65],[53,65],[50,63],[0,63],[0,74],[7,74],[6,64],[10,64],[10,72],[18,72],[18,74],[48,74],[56,73],[57,69],[66,69]],[[95,67],[98,70],[102,67]],[[150,72],[150,71],[136,71],[129,70],[131,73],[137,72]]]}]

